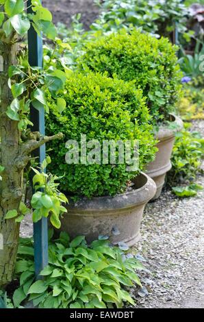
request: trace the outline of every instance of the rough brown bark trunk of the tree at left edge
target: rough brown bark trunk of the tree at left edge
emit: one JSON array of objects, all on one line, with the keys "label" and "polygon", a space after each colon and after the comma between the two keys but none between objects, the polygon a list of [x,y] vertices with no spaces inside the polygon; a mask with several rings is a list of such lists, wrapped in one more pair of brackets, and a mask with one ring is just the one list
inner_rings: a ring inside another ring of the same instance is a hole
[{"label": "rough brown bark trunk of the tree at left edge", "polygon": [[0,41],[0,55],[3,57],[3,72],[0,72],[0,165],[4,167],[0,181],[0,239],[3,239],[3,245],[0,245],[0,288],[12,281],[20,227],[14,219],[5,220],[4,217],[8,210],[18,210],[23,194],[23,169],[19,169],[17,162],[20,147],[18,122],[5,114],[13,99],[8,87],[8,68],[17,64],[16,48],[17,45]]}]

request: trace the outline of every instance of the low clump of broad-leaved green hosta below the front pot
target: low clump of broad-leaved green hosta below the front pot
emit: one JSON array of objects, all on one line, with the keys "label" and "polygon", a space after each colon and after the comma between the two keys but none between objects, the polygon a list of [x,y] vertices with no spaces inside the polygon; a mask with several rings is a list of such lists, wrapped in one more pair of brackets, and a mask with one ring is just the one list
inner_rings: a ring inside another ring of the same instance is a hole
[{"label": "low clump of broad-leaved green hosta below the front pot", "polygon": [[122,308],[126,301],[134,304],[127,289],[134,284],[141,286],[135,271],[143,267],[108,240],[94,240],[88,246],[84,236],[71,241],[62,232],[58,240],[49,243],[49,265],[40,273],[44,280],[37,282],[33,253],[31,240],[21,240],[15,307],[27,296],[39,308]]}]

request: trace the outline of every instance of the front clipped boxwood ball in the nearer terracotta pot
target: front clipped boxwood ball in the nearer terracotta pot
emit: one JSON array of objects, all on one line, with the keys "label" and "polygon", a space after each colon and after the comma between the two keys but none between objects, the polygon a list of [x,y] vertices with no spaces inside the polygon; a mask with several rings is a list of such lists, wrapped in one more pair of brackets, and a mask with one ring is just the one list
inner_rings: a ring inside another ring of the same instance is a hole
[{"label": "front clipped boxwood ball in the nearer terracotta pot", "polygon": [[[61,98],[66,101],[66,108],[60,114],[50,99],[46,121],[47,134],[64,134],[63,140],[47,145],[51,148],[50,169],[63,176],[61,189],[86,197],[123,192],[127,181],[153,160],[156,150],[152,125],[149,124],[151,117],[141,90],[136,90],[133,82],[123,82],[100,73],[73,73]],[[66,164],[66,141],[72,139],[80,143],[81,134],[86,134],[87,141],[99,140],[101,145],[103,140],[139,140],[140,169],[127,171],[125,163]]]}]

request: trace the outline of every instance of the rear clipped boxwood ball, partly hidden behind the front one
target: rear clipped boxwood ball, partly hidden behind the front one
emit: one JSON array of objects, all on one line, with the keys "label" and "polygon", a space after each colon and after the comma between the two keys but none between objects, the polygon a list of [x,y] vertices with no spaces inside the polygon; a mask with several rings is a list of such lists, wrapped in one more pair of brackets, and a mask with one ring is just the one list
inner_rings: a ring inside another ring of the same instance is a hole
[{"label": "rear clipped boxwood ball, partly hidden behind the front one", "polygon": [[154,120],[168,119],[181,94],[181,71],[177,64],[177,47],[167,38],[160,40],[138,30],[90,40],[78,59],[79,69],[107,71],[125,81],[135,80],[143,90]]}]

